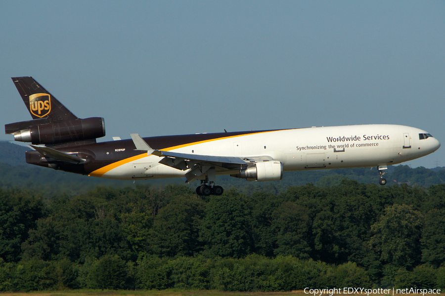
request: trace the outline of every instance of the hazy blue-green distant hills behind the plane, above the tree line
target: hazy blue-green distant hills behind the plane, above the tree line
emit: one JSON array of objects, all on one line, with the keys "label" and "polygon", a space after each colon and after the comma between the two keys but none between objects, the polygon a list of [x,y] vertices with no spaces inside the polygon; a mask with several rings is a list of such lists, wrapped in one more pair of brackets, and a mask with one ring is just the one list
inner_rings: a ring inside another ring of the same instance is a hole
[{"label": "hazy blue-green distant hills behind the plane, above the tree line", "polygon": [[[30,150],[23,146],[9,142],[0,142],[0,187],[1,188],[28,188],[57,196],[60,194],[78,194],[93,189],[96,186],[126,187],[134,186],[133,181],[108,180],[82,176],[63,171],[27,164],[25,151]],[[445,184],[445,168],[426,169],[424,167],[410,168],[407,165],[389,166],[385,175],[388,185],[408,184],[428,187],[435,184]],[[340,184],[344,179],[356,180],[360,183],[377,184],[379,174],[376,168],[354,168],[334,170],[311,170],[284,173],[283,180],[272,182],[247,182],[229,176],[219,176],[217,183],[224,188],[236,187],[245,193],[255,191],[283,192],[289,186],[300,186],[308,183],[330,187]],[[165,186],[169,184],[183,184],[180,178],[156,179],[137,181],[136,185]],[[195,188],[199,185],[194,182],[190,185]]]}]

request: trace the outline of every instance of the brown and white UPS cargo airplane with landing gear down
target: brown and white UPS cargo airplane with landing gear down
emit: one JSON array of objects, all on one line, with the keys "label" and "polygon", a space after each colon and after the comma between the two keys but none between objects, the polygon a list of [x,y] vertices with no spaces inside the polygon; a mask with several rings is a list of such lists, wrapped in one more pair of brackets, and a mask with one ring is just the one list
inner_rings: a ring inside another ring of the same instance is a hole
[{"label": "brown and white UPS cargo airplane with landing gear down", "polygon": [[32,120],[5,125],[15,141],[30,142],[26,162],[93,177],[119,180],[196,180],[198,195],[221,195],[217,175],[277,181],[286,171],[377,167],[379,184],[388,165],[436,151],[428,132],[403,125],[366,124],[290,128],[96,142],[105,136],[101,117],[75,116],[33,77],[12,77]]}]

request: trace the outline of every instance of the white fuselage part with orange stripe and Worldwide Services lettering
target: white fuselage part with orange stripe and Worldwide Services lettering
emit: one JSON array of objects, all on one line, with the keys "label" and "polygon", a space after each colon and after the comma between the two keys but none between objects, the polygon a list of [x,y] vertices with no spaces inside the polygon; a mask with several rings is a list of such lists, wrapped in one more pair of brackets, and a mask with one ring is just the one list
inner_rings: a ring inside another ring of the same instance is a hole
[{"label": "white fuselage part with orange stripe and Worldwide Services lettering", "polygon": [[[372,124],[266,131],[189,143],[163,150],[240,158],[268,157],[280,161],[284,171],[336,169],[399,164],[430,154],[440,147],[426,131],[402,125]],[[92,172],[91,176],[133,180],[140,168],[143,179],[183,177],[186,171],[159,161],[163,157],[140,154]],[[142,172],[143,171],[143,172]],[[218,171],[231,174],[233,171]]]}]

